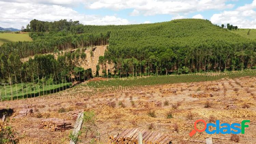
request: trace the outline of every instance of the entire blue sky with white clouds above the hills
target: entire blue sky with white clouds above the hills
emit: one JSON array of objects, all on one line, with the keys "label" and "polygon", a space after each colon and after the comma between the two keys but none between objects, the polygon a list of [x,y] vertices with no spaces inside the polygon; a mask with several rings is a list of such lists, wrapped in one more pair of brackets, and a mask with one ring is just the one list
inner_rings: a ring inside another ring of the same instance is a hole
[{"label": "entire blue sky with white clouds above the hills", "polygon": [[0,27],[30,20],[79,20],[86,25],[156,23],[180,18],[256,28],[256,0],[0,0]]}]

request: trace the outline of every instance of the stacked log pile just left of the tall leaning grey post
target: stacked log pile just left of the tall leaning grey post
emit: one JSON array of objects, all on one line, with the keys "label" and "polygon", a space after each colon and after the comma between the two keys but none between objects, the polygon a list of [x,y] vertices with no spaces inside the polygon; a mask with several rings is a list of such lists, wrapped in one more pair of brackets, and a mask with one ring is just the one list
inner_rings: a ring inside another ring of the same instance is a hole
[{"label": "stacked log pile just left of the tall leaning grey post", "polygon": [[72,128],[71,121],[58,118],[47,118],[41,120],[41,126],[44,129],[49,129],[52,131],[66,130]]}]

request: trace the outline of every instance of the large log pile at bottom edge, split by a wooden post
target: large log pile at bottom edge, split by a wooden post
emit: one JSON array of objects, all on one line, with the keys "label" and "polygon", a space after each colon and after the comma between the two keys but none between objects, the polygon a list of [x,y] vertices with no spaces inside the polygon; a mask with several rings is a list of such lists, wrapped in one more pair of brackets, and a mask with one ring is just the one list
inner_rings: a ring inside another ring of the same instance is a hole
[{"label": "large log pile at bottom edge, split by a wooden post", "polygon": [[142,134],[143,144],[171,144],[172,139],[168,135],[144,129],[126,129],[120,134],[110,136],[110,142],[115,144],[138,144],[139,132]]}]

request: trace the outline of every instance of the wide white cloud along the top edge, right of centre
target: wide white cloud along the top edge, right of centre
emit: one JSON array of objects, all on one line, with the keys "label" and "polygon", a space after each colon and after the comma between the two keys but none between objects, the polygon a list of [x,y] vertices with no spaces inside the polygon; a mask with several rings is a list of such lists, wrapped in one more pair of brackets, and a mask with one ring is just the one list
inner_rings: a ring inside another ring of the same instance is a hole
[{"label": "wide white cloud along the top edge, right of centre", "polygon": [[223,10],[233,8],[225,4],[228,0],[87,0],[86,8],[112,10],[135,9],[143,15],[179,14],[204,10]]}]

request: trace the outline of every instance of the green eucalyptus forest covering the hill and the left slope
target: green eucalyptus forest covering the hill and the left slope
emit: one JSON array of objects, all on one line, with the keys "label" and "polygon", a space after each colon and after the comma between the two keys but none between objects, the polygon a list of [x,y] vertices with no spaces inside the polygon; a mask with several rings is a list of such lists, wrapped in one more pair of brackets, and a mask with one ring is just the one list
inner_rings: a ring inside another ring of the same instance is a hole
[{"label": "green eucalyptus forest covering the hill and the left slope", "polygon": [[[209,20],[93,26],[66,19],[34,19],[23,31],[33,41],[0,46],[1,100],[54,93],[71,87],[74,81],[99,76],[78,62],[86,60],[86,48],[97,45],[108,45],[97,65],[97,70],[102,68],[101,76],[108,78],[256,69],[256,41]],[[21,60],[27,57],[28,61]],[[113,68],[107,70],[110,63]],[[11,89],[9,98],[7,88]]]}]

